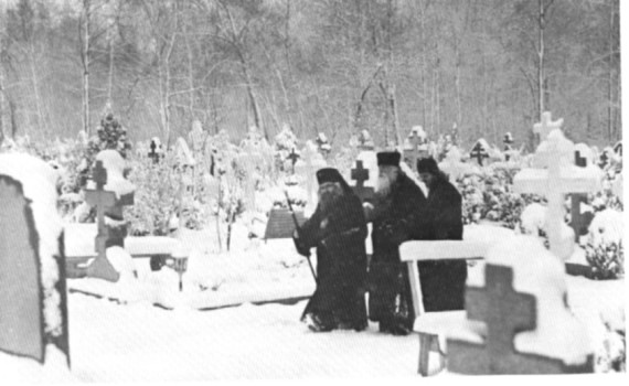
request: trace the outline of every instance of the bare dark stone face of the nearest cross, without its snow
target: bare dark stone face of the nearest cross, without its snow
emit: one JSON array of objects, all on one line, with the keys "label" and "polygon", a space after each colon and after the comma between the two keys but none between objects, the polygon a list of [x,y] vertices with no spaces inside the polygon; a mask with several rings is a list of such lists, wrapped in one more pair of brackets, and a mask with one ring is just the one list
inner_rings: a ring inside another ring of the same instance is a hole
[{"label": "bare dark stone face of the nearest cross, without its snow", "polygon": [[487,325],[484,344],[448,339],[448,369],[459,374],[558,374],[561,360],[515,351],[516,333],[535,330],[537,304],[534,296],[516,292],[511,267],[488,264],[486,287],[468,287],[469,320]]}]

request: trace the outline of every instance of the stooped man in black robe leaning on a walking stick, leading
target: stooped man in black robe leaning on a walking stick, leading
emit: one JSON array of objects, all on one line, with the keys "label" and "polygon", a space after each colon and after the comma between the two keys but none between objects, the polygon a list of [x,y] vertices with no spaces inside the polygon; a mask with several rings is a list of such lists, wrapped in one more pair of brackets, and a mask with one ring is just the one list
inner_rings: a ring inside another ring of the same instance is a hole
[{"label": "stooped man in black robe leaning on a walking stick, leading", "polygon": [[301,255],[317,247],[317,290],[305,310],[308,328],[362,331],[365,308],[366,222],[360,199],[337,169],[317,172],[319,204],[294,234]]}]

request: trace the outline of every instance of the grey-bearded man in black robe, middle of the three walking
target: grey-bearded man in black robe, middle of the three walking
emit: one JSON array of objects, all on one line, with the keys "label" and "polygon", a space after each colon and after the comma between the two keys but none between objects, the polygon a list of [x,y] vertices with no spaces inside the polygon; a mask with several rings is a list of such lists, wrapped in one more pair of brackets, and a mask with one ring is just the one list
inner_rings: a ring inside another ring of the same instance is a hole
[{"label": "grey-bearded man in black robe, middle of the three walking", "polygon": [[413,329],[415,312],[408,270],[399,260],[399,245],[417,238],[417,217],[426,197],[399,169],[398,152],[377,153],[379,182],[373,206],[365,207],[373,222],[373,256],[369,267],[369,318],[381,332],[405,335]]}]

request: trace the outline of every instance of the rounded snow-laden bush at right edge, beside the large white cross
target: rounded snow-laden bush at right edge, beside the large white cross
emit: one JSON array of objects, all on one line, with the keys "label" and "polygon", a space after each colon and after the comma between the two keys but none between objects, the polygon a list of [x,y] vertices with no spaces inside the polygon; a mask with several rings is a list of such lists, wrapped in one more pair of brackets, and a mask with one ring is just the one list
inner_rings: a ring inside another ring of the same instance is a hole
[{"label": "rounded snow-laden bush at right edge, beside the large white cross", "polygon": [[605,210],[595,215],[589,225],[585,257],[598,279],[625,276],[622,248],[622,213]]}]

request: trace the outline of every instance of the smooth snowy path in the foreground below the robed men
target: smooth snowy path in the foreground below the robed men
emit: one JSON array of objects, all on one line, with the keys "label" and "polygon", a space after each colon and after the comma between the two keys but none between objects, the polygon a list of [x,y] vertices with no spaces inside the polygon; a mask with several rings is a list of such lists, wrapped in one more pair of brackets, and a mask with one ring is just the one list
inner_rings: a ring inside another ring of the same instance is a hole
[{"label": "smooth snowy path in the foreground below the robed men", "polygon": [[305,302],[163,311],[73,294],[70,304],[73,374],[85,382],[416,374],[417,336],[316,334],[298,322]]}]

